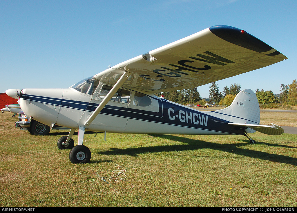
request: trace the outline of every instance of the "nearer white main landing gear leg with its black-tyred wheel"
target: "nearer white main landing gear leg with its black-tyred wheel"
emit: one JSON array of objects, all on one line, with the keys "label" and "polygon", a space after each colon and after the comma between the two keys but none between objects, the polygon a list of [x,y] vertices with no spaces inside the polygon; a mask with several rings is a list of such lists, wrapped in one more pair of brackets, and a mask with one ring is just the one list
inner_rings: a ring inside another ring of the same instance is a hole
[{"label": "nearer white main landing gear leg with its black-tyred wheel", "polygon": [[73,147],[69,152],[69,160],[72,164],[89,163],[91,159],[91,151],[88,147],[83,145],[83,136],[85,134],[85,127],[78,127],[78,145]]}]

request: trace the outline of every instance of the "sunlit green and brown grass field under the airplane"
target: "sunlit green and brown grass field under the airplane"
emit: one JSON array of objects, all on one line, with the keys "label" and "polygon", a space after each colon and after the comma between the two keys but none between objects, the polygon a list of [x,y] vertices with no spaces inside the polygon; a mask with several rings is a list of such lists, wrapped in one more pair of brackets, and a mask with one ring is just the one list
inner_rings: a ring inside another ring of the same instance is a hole
[{"label": "sunlit green and brown grass field under the airplane", "polygon": [[[245,136],[107,133],[104,141],[90,132],[91,162],[71,164],[57,148],[68,132],[34,136],[10,113],[0,121],[0,206],[297,205],[295,134],[249,134],[251,145]],[[116,164],[126,177],[102,180]]]}]

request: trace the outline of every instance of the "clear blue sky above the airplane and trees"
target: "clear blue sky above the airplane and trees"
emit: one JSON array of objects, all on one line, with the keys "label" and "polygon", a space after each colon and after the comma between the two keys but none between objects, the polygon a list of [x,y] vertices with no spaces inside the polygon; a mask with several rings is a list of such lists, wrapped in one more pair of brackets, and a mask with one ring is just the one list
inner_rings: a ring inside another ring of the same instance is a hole
[{"label": "clear blue sky above the airplane and trees", "polygon": [[[296,0],[0,1],[0,93],[68,88],[132,57],[211,27],[230,25],[289,59],[217,81],[272,90],[296,74]],[[209,96],[210,84],[198,87]]]}]

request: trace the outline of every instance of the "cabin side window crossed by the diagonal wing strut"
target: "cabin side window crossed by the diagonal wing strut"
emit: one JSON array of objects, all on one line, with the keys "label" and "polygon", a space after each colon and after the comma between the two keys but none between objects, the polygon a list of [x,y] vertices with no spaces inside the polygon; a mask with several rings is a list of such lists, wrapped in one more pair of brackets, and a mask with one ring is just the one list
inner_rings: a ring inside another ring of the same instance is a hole
[{"label": "cabin side window crossed by the diagonal wing strut", "polygon": [[[103,85],[99,93],[99,98],[105,98],[111,89],[112,86]],[[127,104],[130,101],[130,95],[131,93],[129,90],[119,89],[110,100]]]}]

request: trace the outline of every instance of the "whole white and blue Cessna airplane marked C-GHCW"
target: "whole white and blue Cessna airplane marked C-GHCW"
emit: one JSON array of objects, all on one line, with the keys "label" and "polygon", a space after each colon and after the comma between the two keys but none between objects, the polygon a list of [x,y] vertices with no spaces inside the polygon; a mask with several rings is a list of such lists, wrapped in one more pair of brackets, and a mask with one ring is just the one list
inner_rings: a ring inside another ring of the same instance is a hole
[{"label": "whole white and blue Cessna airplane marked C-GHCW", "polygon": [[[198,87],[285,59],[246,31],[219,25],[110,67],[68,89],[9,89],[6,93],[19,99],[31,119],[50,127],[71,128],[58,140],[58,148],[71,149],[72,163],[87,163],[91,151],[83,145],[86,129],[147,134],[282,134],[284,130],[277,125],[259,125],[259,104],[250,89],[239,92],[229,107],[212,112],[200,112],[154,93]],[[76,129],[78,145],[74,146]]]}]

